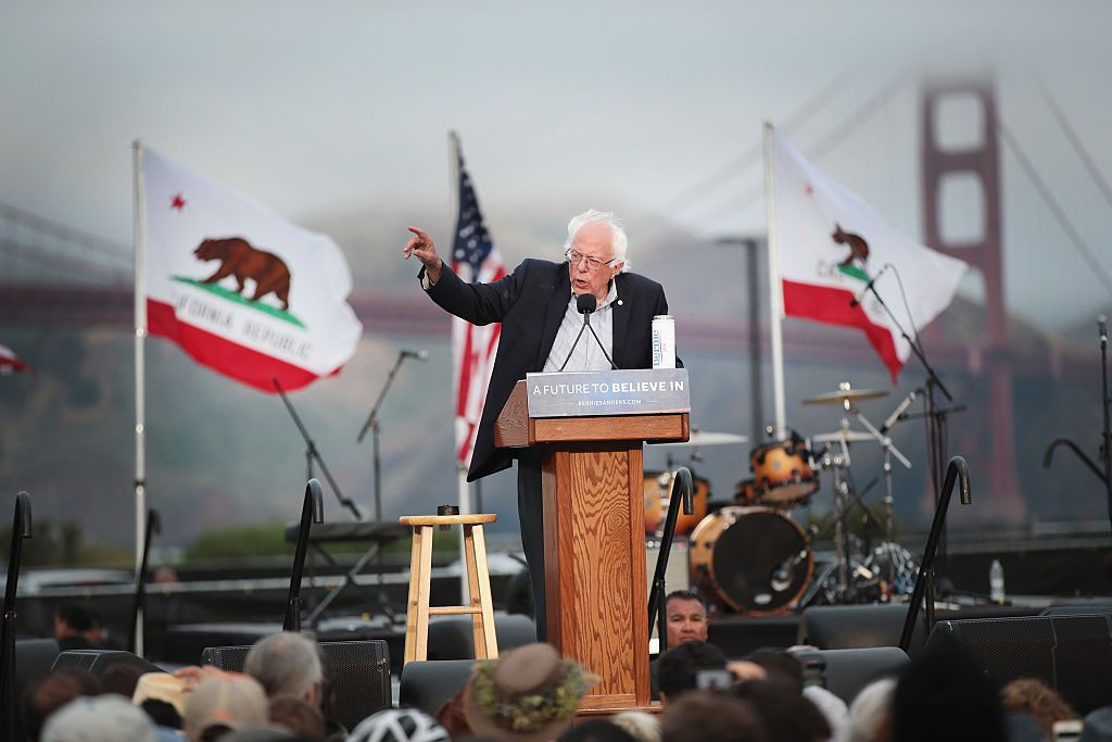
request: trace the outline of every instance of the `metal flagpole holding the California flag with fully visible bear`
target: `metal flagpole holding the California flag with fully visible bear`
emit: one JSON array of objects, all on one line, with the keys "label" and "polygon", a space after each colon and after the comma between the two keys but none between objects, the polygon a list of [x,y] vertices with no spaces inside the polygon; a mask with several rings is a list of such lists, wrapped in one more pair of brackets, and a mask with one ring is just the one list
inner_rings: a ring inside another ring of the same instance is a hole
[{"label": "metal flagpole holding the California flag with fully visible bear", "polygon": [[[135,320],[136,320],[136,584],[142,568],[143,537],[147,528],[147,406],[146,386],[143,376],[146,365],[143,363],[145,344],[147,338],[147,214],[146,194],[143,191],[142,178],[142,140],[136,139],[131,142],[131,162],[133,170],[133,192],[135,192],[135,220],[133,240],[136,255],[136,289],[135,289]],[[136,617],[135,647],[136,654],[143,655],[142,645],[142,609]]]}]

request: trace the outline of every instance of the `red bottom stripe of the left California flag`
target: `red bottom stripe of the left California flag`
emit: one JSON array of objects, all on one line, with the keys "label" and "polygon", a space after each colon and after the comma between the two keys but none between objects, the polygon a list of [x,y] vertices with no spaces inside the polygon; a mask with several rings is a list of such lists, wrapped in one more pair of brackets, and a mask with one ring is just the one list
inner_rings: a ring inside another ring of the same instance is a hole
[{"label": "red bottom stripe of the left California flag", "polygon": [[[308,386],[319,378],[312,372],[178,321],[171,305],[150,298],[147,299],[147,329],[151,335],[177,343],[189,357],[202,366],[208,366],[260,392],[277,394],[272,380],[275,378],[286,392]],[[328,376],[339,373],[340,369],[337,368]]]}]

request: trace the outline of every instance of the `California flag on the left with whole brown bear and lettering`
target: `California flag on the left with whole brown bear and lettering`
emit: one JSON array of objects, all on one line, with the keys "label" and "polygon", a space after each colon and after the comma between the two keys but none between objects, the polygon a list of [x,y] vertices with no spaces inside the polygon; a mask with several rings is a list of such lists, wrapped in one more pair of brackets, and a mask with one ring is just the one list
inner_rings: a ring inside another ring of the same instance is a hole
[{"label": "California flag on the left with whole brown bear and lettering", "polygon": [[265,392],[337,374],[363,326],[336,243],[149,149],[140,168],[150,334]]}]

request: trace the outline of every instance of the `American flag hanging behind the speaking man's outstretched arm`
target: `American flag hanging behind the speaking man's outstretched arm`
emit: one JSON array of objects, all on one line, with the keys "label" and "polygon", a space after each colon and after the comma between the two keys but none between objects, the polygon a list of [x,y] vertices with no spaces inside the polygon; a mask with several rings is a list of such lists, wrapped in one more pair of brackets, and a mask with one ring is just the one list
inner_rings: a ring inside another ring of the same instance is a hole
[{"label": "American flag hanging behind the speaking man's outstretched arm", "polygon": [[[466,283],[488,284],[506,275],[506,266],[494,249],[490,233],[483,222],[479,199],[464,166],[464,156],[456,148],[459,161],[459,218],[451,246],[451,270]],[[490,372],[502,325],[476,327],[454,317],[451,320],[451,366],[456,392],[456,457],[464,468],[470,464],[483,403],[486,400]]]}]

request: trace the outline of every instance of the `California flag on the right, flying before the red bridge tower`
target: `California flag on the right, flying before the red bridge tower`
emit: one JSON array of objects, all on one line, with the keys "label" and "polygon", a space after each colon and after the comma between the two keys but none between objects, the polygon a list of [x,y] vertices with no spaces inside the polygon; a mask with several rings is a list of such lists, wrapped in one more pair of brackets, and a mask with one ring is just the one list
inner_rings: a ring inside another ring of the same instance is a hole
[{"label": "California flag on the right, flying before the red bridge tower", "polygon": [[894,230],[867,204],[803,159],[776,131],[772,150],[784,314],[860,327],[895,382],[911,345],[876,297],[868,294],[851,306],[854,297],[876,278],[873,288],[914,337],[916,328],[946,308],[969,266]]}]

